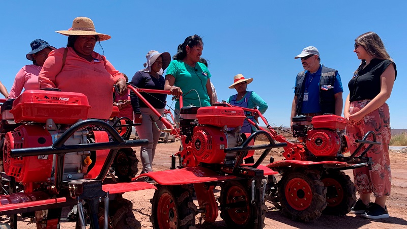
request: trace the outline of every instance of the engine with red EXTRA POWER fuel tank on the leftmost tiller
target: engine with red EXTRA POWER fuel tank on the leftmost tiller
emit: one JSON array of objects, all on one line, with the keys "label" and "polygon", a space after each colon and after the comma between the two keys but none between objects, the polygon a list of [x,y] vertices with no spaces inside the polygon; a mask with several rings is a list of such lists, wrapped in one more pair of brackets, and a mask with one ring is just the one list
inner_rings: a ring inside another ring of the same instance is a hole
[{"label": "engine with red EXTRA POWER fuel tank on the leftmost tiller", "polygon": [[[20,124],[4,136],[3,166],[7,175],[24,184],[37,183],[51,187],[57,171],[56,155],[12,158],[12,149],[51,146],[78,120],[88,118],[88,99],[79,93],[28,90],[13,102],[10,110],[15,123]],[[108,141],[104,131],[76,131],[64,145]],[[63,181],[95,178],[98,167],[109,150],[74,152],[64,156]],[[96,161],[96,153],[98,161]]]}]

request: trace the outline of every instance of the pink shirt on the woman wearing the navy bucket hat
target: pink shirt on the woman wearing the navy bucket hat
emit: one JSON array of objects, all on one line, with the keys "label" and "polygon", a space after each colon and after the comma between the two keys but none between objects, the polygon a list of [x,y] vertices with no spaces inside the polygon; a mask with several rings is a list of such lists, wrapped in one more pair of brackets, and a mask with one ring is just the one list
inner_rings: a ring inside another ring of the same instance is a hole
[{"label": "pink shirt on the woman wearing the navy bucket hat", "polygon": [[11,87],[9,98],[15,99],[24,90],[40,89],[38,85],[38,74],[40,74],[42,66],[38,65],[25,65],[17,72],[14,79],[13,86]]}]

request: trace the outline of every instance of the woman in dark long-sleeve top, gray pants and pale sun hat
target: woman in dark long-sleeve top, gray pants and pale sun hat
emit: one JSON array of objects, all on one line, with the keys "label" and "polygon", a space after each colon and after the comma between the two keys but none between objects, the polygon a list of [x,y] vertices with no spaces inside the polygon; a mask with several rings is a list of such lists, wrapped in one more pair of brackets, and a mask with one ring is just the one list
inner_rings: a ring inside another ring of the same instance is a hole
[{"label": "woman in dark long-sleeve top, gray pants and pale sun hat", "polygon": [[[165,79],[162,76],[163,70],[165,70],[169,62],[171,61],[171,55],[168,52],[158,52],[151,50],[146,55],[147,62],[144,63],[144,69],[137,71],[132,80],[131,84],[140,89],[154,89],[154,90],[164,90]],[[146,100],[157,109],[158,112],[163,113],[165,108],[166,94],[156,94],[156,93],[141,93]],[[131,104],[134,110],[134,123],[141,123],[140,126],[136,127],[138,136],[140,139],[148,139],[149,145],[142,146],[140,151],[140,158],[143,164],[143,169],[141,173],[148,173],[153,171],[152,164],[154,159],[154,154],[157,147],[157,142],[160,137],[160,131],[150,120],[150,116],[157,120],[156,123],[159,127],[162,126],[159,117],[147,107],[145,103],[138,100],[137,95],[133,92],[130,93]]]}]

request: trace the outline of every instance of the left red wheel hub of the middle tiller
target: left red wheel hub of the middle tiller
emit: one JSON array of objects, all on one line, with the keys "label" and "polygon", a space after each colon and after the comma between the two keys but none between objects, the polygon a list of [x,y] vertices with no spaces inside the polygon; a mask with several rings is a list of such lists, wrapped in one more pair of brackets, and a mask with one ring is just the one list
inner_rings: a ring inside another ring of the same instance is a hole
[{"label": "left red wheel hub of the middle tiller", "polygon": [[158,201],[157,206],[157,221],[160,228],[177,228],[178,214],[176,203],[172,196],[168,193],[163,193]]}]

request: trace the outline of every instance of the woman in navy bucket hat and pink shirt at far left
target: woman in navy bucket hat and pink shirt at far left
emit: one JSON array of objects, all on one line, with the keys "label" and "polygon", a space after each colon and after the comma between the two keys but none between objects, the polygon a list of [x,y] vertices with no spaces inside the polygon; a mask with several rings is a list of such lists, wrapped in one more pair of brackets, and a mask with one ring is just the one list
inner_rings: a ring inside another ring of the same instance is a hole
[{"label": "woman in navy bucket hat and pink shirt at far left", "polygon": [[55,48],[50,46],[48,42],[35,39],[30,44],[31,52],[28,52],[25,57],[27,60],[33,62],[32,65],[25,65],[17,72],[14,79],[13,86],[10,90],[10,99],[15,99],[21,94],[21,91],[40,89],[38,85],[38,74],[40,74],[41,68],[44,65],[45,60],[48,58],[50,51]]}]

